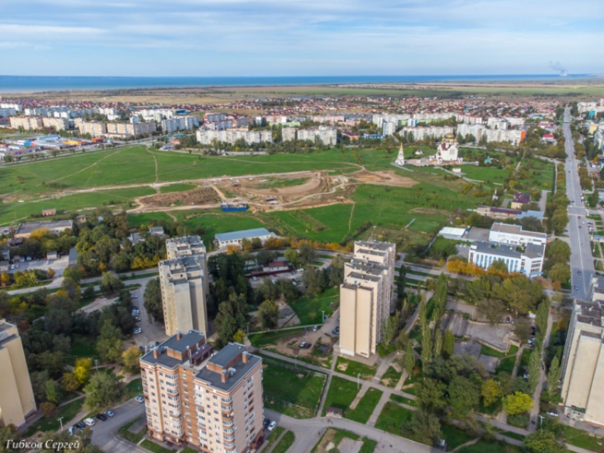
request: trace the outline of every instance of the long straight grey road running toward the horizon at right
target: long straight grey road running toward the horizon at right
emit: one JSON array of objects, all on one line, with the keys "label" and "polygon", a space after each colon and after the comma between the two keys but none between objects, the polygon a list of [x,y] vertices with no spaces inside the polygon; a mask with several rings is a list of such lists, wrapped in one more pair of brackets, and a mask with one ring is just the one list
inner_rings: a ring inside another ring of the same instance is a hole
[{"label": "long straight grey road running toward the horizon at right", "polygon": [[[571,204],[568,207],[568,239],[571,245],[571,298],[587,300],[591,277],[594,273],[590,238],[586,224],[587,209],[581,202],[581,184],[578,175],[578,160],[571,136],[570,114],[564,112],[563,133],[566,138],[566,195]],[[581,227],[581,228],[579,228]],[[581,271],[581,275],[578,272]],[[578,287],[578,289],[574,289]]]}]

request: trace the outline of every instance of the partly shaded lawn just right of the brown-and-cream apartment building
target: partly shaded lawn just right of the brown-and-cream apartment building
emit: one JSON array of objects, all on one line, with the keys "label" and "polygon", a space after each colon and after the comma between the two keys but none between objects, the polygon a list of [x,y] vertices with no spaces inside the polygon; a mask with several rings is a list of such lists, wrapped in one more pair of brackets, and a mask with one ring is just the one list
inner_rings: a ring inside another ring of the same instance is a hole
[{"label": "partly shaded lawn just right of the brown-and-cream apartment building", "polygon": [[316,415],[326,375],[264,361],[264,407],[294,418]]}]

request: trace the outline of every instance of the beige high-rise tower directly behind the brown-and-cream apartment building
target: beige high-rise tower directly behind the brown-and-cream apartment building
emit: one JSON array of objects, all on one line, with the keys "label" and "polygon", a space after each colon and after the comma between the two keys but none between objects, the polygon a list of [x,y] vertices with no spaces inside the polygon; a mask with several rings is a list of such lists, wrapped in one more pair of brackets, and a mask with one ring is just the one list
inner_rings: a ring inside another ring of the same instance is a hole
[{"label": "beige high-rise tower directly behind the brown-and-cream apartment building", "polygon": [[199,236],[189,236],[168,239],[166,251],[168,259],[158,263],[166,334],[191,329],[207,334],[205,246]]}]

